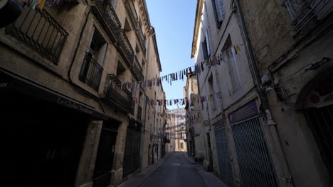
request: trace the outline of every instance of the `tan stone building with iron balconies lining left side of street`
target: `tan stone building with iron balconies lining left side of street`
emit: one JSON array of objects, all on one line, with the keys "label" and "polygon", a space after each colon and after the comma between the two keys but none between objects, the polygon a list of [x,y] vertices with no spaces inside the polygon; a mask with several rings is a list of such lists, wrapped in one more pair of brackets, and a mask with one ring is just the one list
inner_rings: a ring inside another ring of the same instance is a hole
[{"label": "tan stone building with iron balconies lining left side of street", "polygon": [[144,169],[144,132],[157,123],[145,119],[164,109],[132,101],[165,94],[121,86],[162,71],[144,0],[24,4],[0,28],[0,56],[12,186],[108,186]]}]

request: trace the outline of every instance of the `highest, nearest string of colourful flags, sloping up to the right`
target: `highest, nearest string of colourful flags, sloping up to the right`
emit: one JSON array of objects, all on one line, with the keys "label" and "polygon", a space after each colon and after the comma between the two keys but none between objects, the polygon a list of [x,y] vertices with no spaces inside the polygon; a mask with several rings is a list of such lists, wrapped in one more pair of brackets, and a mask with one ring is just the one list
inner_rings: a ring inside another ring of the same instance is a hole
[{"label": "highest, nearest string of colourful flags, sloping up to the right", "polygon": [[166,74],[161,77],[156,77],[154,79],[147,79],[144,81],[124,82],[120,84],[120,86],[121,88],[138,89],[139,87],[150,88],[152,86],[161,86],[162,81],[166,81],[170,85],[172,85],[172,81],[179,81],[179,80],[184,81],[184,77],[187,76],[188,74],[192,73],[201,74],[201,72],[203,72],[203,70],[205,69],[203,65],[205,65],[206,68],[207,67],[211,68],[212,66],[220,65],[221,62],[228,62],[231,59],[231,57],[238,55],[238,52],[240,51],[240,45],[235,45],[233,47],[228,48],[227,50],[223,50],[218,55],[211,55],[211,57],[209,57],[207,60],[199,62],[194,66],[187,67],[186,69],[182,69],[171,74]]}]

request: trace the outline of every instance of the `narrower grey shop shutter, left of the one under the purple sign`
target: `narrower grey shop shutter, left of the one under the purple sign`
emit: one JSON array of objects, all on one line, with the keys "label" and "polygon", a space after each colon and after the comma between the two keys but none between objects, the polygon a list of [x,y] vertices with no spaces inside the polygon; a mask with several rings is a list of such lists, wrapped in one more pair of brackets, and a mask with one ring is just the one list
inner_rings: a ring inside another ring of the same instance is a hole
[{"label": "narrower grey shop shutter, left of the one under the purple sign", "polygon": [[218,166],[220,167],[221,180],[228,185],[234,186],[233,171],[231,169],[228,140],[225,128],[215,131],[216,150],[218,154]]}]

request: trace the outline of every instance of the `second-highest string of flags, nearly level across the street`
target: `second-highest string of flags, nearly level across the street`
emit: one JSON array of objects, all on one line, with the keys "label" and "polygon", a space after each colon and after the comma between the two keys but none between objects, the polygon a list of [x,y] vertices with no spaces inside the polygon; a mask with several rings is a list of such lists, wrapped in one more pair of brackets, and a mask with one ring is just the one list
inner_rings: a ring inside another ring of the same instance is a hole
[{"label": "second-highest string of flags, nearly level across the street", "polygon": [[[132,103],[139,103],[141,106],[184,106],[186,103],[203,103],[207,101],[216,101],[221,98],[221,92],[208,94],[206,96],[192,96],[189,98],[173,98],[173,99],[152,99],[132,97]],[[191,102],[190,102],[191,101]]]}]

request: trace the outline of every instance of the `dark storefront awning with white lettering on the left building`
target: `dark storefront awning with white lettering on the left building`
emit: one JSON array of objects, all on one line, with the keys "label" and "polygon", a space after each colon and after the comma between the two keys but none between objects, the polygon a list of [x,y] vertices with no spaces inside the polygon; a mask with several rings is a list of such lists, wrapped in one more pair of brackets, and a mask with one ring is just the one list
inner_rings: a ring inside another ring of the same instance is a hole
[{"label": "dark storefront awning with white lettering on the left building", "polygon": [[23,94],[36,96],[45,101],[57,103],[60,106],[71,108],[92,116],[93,120],[108,120],[109,116],[97,111],[95,108],[76,101],[73,98],[65,96],[51,89],[37,84],[33,81],[20,77],[16,74],[0,69],[0,91],[4,89],[21,91]]}]

